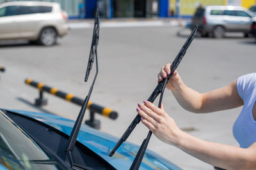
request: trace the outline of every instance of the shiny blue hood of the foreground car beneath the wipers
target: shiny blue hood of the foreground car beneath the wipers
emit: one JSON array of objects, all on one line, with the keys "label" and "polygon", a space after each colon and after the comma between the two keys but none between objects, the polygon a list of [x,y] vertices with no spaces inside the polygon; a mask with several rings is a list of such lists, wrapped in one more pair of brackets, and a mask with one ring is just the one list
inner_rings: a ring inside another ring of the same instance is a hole
[{"label": "shiny blue hood of the foreground car beneath the wipers", "polygon": [[[61,132],[64,132],[68,136],[71,134],[74,121],[67,118],[58,117],[56,115],[50,115],[46,113],[35,113],[29,111],[10,110],[20,115],[33,118],[44,124],[50,125]],[[87,146],[93,152],[97,153],[104,160],[109,162],[116,169],[129,169],[139,150],[138,145],[134,145],[129,142],[125,142],[116,150],[112,157],[108,154],[116,145],[118,138],[106,134],[104,132],[97,131],[88,125],[81,125],[77,141]],[[160,155],[150,150],[147,150],[141,162],[140,169],[173,169],[180,170],[172,162],[164,159]]]}]

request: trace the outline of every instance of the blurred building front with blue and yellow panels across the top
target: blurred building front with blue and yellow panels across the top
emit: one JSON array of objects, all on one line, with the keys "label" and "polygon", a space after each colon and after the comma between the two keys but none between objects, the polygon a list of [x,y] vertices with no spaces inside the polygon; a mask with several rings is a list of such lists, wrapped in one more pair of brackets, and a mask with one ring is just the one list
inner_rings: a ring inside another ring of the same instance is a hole
[{"label": "blurred building front with blue and yellow panels across the top", "polygon": [[[0,3],[13,0],[0,0]],[[33,1],[33,0],[31,0]],[[69,18],[93,18],[98,8],[101,18],[191,17],[201,4],[237,5],[249,8],[256,0],[37,0],[61,4]]]}]

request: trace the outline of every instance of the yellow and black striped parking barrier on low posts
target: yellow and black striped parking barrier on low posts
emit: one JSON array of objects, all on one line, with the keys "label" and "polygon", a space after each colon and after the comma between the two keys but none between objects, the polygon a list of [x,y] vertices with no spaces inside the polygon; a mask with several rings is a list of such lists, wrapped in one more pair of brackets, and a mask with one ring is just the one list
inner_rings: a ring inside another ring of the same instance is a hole
[{"label": "yellow and black striped parking barrier on low posts", "polygon": [[[27,85],[31,85],[32,87],[39,89],[41,99],[42,99],[42,92],[48,92],[49,94],[58,96],[61,99],[65,99],[65,100],[70,101],[71,103],[77,104],[79,106],[82,106],[82,104],[83,104],[83,101],[84,101],[83,99],[80,99],[80,98],[74,96],[73,94],[68,94],[66,92],[62,92],[61,90],[58,90],[57,88],[52,88],[47,85],[44,85],[44,83],[37,83],[36,81],[33,81],[30,78],[26,79],[25,83]],[[38,104],[38,105],[40,105],[40,104]],[[92,103],[91,101],[88,102],[87,109],[90,110],[91,113],[96,112],[96,113],[99,113],[100,115],[103,115],[104,117],[108,117],[111,119],[116,119],[118,117],[118,113],[116,111],[111,110],[111,108],[104,108],[102,106],[99,106],[98,104]]]}]

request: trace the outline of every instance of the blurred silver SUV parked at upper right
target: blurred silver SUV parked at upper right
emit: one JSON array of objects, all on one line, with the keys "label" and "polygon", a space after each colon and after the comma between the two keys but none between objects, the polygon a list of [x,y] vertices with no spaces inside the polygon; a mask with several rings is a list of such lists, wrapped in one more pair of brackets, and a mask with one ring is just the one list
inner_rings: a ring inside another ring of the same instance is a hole
[{"label": "blurred silver SUV parked at upper right", "polygon": [[205,6],[197,8],[191,29],[198,24],[202,36],[223,38],[225,32],[243,32],[248,37],[255,15],[241,6]]}]

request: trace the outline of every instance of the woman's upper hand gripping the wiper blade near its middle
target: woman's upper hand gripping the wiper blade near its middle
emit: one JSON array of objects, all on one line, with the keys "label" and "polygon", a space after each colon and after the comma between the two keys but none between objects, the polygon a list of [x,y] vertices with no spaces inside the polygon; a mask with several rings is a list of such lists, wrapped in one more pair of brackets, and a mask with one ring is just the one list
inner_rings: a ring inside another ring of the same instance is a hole
[{"label": "woman's upper hand gripping the wiper blade near its middle", "polygon": [[[162,81],[163,78],[166,78],[168,74],[171,73],[171,64],[168,63],[165,66],[161,68],[160,73],[158,73],[158,82]],[[180,89],[183,84],[183,81],[181,80],[179,74],[177,71],[174,71],[172,74],[172,77],[168,81],[166,88],[169,90],[174,90],[174,89]]]}]

